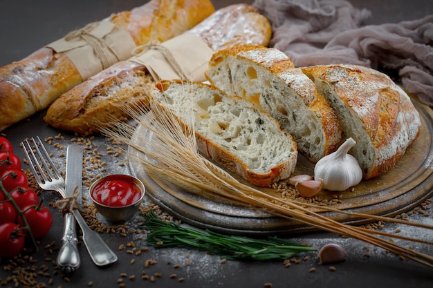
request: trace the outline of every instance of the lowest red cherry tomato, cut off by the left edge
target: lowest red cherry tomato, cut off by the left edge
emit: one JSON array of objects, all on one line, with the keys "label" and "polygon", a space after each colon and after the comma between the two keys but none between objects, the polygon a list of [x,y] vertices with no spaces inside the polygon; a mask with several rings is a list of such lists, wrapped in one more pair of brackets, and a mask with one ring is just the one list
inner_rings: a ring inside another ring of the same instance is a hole
[{"label": "lowest red cherry tomato, cut off by the left edge", "polygon": [[0,257],[16,256],[24,248],[25,238],[16,223],[0,224]]}]

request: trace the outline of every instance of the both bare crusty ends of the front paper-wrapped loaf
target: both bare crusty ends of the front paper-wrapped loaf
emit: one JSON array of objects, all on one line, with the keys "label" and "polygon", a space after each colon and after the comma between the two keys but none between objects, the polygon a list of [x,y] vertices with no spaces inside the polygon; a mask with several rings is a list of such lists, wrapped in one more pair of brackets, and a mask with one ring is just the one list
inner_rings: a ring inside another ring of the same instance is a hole
[{"label": "both bare crusty ends of the front paper-wrapped loaf", "polygon": [[[271,35],[268,20],[246,4],[221,8],[186,33],[214,50],[232,44],[267,45]],[[144,65],[121,61],[64,93],[48,108],[44,120],[62,130],[95,133],[114,119],[126,119],[125,107],[146,102],[152,81]]]}]

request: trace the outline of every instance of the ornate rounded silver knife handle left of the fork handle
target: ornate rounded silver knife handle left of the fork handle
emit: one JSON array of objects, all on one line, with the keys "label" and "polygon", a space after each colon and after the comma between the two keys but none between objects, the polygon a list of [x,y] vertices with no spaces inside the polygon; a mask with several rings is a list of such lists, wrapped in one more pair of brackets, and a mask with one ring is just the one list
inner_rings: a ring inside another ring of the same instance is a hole
[{"label": "ornate rounded silver knife handle left of the fork handle", "polygon": [[64,214],[62,247],[57,255],[57,265],[66,273],[72,273],[80,267],[80,253],[77,249],[77,229],[72,213]]}]

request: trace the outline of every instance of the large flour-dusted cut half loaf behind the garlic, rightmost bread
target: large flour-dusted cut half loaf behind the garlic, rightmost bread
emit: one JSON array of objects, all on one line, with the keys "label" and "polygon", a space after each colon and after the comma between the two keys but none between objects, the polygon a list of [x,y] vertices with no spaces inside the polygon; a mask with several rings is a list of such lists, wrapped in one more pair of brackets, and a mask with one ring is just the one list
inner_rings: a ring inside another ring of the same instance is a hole
[{"label": "large flour-dusted cut half loaf behind the garlic, rightmost bread", "polygon": [[364,179],[389,171],[418,137],[418,111],[387,75],[354,65],[302,70],[335,109],[343,137],[356,141],[349,153],[358,160]]}]

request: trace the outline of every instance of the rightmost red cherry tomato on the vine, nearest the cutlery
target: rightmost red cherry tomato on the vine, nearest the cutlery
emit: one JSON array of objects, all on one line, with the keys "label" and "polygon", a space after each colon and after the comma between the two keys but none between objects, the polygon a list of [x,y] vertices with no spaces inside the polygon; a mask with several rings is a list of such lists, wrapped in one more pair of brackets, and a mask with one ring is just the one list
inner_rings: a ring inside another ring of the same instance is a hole
[{"label": "rightmost red cherry tomato on the vine, nearest the cutlery", "polygon": [[[50,231],[53,218],[48,208],[42,205],[28,206],[23,211],[34,238],[41,238]],[[18,224],[24,227],[24,221],[21,217],[18,217]]]}]

